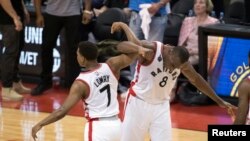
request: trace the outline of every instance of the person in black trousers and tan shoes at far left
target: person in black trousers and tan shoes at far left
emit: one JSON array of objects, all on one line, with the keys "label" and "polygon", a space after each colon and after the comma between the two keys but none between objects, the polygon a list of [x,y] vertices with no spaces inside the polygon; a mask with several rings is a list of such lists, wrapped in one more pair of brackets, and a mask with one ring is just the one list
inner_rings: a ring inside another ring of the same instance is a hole
[{"label": "person in black trousers and tan shoes at far left", "polygon": [[24,24],[29,22],[29,13],[23,0],[0,0],[0,32],[4,49],[1,48],[2,99],[19,101],[22,93],[30,93],[18,77],[18,65],[24,46]]}]

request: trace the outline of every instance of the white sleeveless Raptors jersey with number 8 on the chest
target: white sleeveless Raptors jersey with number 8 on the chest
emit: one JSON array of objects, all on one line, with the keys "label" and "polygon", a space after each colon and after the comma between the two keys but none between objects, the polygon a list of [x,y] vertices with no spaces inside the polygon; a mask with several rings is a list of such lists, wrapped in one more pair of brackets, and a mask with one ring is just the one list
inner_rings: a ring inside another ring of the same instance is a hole
[{"label": "white sleeveless Raptors jersey with number 8 on the chest", "polygon": [[169,93],[176,83],[180,69],[164,68],[163,45],[160,42],[154,43],[156,45],[154,58],[149,64],[137,63],[129,92],[148,103],[161,104],[169,100]]}]

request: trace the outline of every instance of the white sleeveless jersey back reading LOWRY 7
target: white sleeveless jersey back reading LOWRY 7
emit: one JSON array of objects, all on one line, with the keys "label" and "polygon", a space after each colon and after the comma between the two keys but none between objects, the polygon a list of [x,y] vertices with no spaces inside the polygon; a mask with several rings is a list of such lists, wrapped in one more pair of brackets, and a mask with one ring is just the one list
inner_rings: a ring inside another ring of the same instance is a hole
[{"label": "white sleeveless jersey back reading LOWRY 7", "polygon": [[95,70],[81,72],[76,80],[88,86],[85,102],[85,117],[111,117],[119,113],[117,100],[118,80],[106,63]]}]

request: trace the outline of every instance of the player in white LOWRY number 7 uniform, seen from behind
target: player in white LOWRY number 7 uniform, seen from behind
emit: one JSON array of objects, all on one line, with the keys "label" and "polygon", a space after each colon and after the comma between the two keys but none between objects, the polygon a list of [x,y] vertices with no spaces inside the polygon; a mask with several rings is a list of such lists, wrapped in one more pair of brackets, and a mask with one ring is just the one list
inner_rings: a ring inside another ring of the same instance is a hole
[{"label": "player in white LOWRY number 7 uniform, seen from behind", "polygon": [[98,63],[97,46],[91,42],[80,42],[77,50],[78,63],[85,67],[70,88],[63,105],[32,128],[32,136],[45,125],[63,118],[80,100],[85,103],[84,141],[119,141],[121,134],[117,87],[120,70],[129,66],[137,55],[145,58],[152,50],[124,41],[117,45],[122,54],[109,58],[106,63]]}]

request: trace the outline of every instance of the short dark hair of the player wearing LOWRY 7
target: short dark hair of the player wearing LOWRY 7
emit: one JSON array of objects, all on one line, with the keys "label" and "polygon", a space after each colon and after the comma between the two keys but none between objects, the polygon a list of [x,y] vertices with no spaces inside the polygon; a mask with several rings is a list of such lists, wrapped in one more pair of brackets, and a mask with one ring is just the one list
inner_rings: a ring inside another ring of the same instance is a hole
[{"label": "short dark hair of the player wearing LOWRY 7", "polygon": [[89,41],[82,41],[78,45],[79,53],[87,60],[96,60],[98,57],[97,46]]}]

